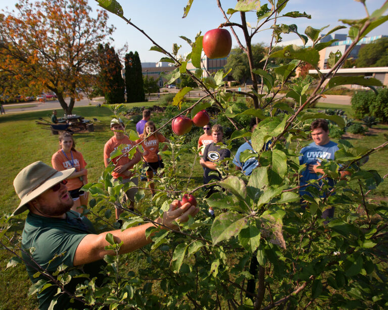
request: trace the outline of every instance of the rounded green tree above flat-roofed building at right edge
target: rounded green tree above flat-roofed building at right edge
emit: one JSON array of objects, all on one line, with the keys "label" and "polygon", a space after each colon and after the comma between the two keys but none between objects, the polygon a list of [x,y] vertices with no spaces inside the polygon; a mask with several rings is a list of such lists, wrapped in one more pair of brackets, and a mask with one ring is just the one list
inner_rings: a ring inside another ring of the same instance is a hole
[{"label": "rounded green tree above flat-roofed building at right edge", "polygon": [[356,66],[359,68],[388,66],[388,38],[381,38],[362,46],[358,52]]}]

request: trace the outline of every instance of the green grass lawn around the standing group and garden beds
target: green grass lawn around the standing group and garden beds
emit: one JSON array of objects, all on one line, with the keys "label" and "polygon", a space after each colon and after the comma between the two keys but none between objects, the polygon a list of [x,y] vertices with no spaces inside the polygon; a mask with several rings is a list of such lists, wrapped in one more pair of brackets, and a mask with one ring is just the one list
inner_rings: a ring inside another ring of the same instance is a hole
[{"label": "green grass lawn around the standing group and garden beds", "polygon": [[[134,106],[153,106],[156,101],[139,102],[136,104],[126,104],[128,108]],[[318,109],[343,109],[346,113],[351,113],[350,106],[318,104]],[[74,139],[76,149],[81,151],[87,162],[88,178],[90,182],[96,182],[104,170],[103,149],[105,142],[112,136],[109,124],[112,113],[106,108],[95,106],[79,107],[73,110],[74,114],[82,115],[86,119],[96,118],[99,122],[94,123],[94,132],[76,133]],[[35,120],[39,117],[46,117],[47,111],[26,112],[0,117],[0,132],[2,143],[0,144],[0,159],[2,163],[2,174],[0,174],[0,184],[2,184],[3,194],[0,197],[3,212],[11,213],[19,204],[13,180],[17,173],[35,161],[42,161],[51,165],[51,157],[59,149],[58,136],[52,135],[49,130],[40,129]],[[129,122],[129,128],[134,129],[135,123]],[[349,140],[355,145],[375,147],[383,143],[386,139],[383,134],[388,133],[387,125],[374,126],[376,129],[366,136],[350,137]],[[383,161],[387,156],[387,151],[373,154],[366,168],[377,170],[380,175],[388,172],[388,162]],[[188,156],[184,161],[192,161]],[[198,165],[193,173],[193,180],[196,184],[202,184],[202,169]],[[183,180],[186,182],[187,179]],[[384,196],[388,193],[388,185],[383,182],[375,191],[375,195]],[[20,224],[15,226],[15,232],[21,233],[26,213],[19,216]],[[141,254],[128,254],[136,255]],[[3,272],[0,273],[0,282],[4,285],[0,288],[0,309],[23,308],[35,309],[37,306],[35,297],[27,298],[27,291],[30,281],[23,265],[4,271],[10,254],[5,250],[0,251],[0,260]]]}]

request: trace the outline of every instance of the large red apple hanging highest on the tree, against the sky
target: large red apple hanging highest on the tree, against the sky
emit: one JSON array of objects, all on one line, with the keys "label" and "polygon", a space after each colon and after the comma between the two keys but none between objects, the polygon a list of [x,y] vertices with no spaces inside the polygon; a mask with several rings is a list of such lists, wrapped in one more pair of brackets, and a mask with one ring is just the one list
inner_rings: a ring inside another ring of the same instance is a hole
[{"label": "large red apple hanging highest on the tree, against the sky", "polygon": [[205,33],[202,46],[208,58],[224,58],[232,48],[232,37],[226,29],[212,29]]}]

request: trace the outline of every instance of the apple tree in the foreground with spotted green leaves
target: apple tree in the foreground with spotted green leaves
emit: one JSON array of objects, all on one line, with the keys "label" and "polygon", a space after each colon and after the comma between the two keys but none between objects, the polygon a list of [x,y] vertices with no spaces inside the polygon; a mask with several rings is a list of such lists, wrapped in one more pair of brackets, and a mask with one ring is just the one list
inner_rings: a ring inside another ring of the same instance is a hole
[{"label": "apple tree in the foreground with spotted green leaves", "polygon": [[[98,2],[125,23],[139,29],[124,16],[115,0]],[[184,17],[189,14],[192,3],[193,0],[188,1]],[[134,210],[120,204],[123,190],[130,184],[113,184],[110,175],[113,167],[108,166],[98,182],[84,186],[90,194],[87,212],[97,217],[101,228],[109,225],[113,205],[120,205],[126,211],[122,226],[126,229],[152,222],[167,210],[172,199],[183,194],[196,196],[203,212],[181,224],[176,231],[151,228],[147,235],[152,236],[153,243],[141,251],[126,256],[107,255],[104,287],[95,286],[94,280],[88,279],[87,275],[77,275],[85,277],[85,282],[77,287],[72,297],[83,299],[85,307],[109,305],[111,309],[386,308],[388,206],[368,196],[386,175],[366,170],[363,164],[368,156],[385,149],[388,142],[368,149],[353,147],[349,141],[338,141],[340,149],[335,159],[321,163],[322,186],[307,186],[310,195],[303,197],[304,206],[299,195],[299,177],[306,167],[299,164],[298,157],[301,147],[310,142],[311,120],[324,118],[344,126],[344,120],[339,116],[309,110],[325,91],[344,84],[381,86],[373,78],[336,77],[335,72],[362,37],[388,20],[388,16],[383,16],[388,3],[363,19],[344,19],[346,26],[333,29],[309,26],[304,33],[300,33],[294,24],[281,24],[284,17],[310,18],[306,13],[287,12],[287,0],[269,0],[266,4],[240,0],[226,11],[219,0],[217,3],[225,18],[220,27],[230,27],[233,35],[233,27],[244,32],[244,41],[236,39],[248,58],[254,83],[246,95],[254,101],[254,108],[248,109],[232,100],[232,93],[224,88],[223,79],[228,72],[220,70],[203,77],[201,34],[192,39],[182,37],[192,47],[191,53],[184,57],[178,56],[177,44],[169,52],[151,39],[154,44],[151,49],[164,54],[161,61],[176,66],[168,75],[168,83],[186,75],[207,93],[186,107],[182,100],[192,88],[181,89],[173,101],[180,111],[162,127],[171,126],[179,115],[194,117],[201,110],[216,108],[235,128],[224,147],[231,148],[234,139],[251,138],[254,152],[243,153],[243,158],[256,158],[260,166],[252,175],[246,176],[225,162],[218,167],[222,180],[211,184],[218,186],[220,191],[204,198],[205,186],[195,186],[192,180],[193,170],[198,165],[198,151],[183,143],[184,135],[173,135],[168,149],[162,152],[165,168],[153,180],[156,194],[151,199],[146,197],[147,188],[140,185],[135,202],[141,208]],[[363,1],[361,3],[357,5],[365,6]],[[240,17],[240,22],[230,21],[235,15]],[[255,21],[250,22],[250,27],[248,18]],[[268,23],[273,29],[273,39],[262,68],[256,68],[252,38],[262,27],[268,27]],[[344,54],[330,57],[329,73],[320,72],[315,81],[291,79],[297,68],[305,63],[319,70],[319,51],[332,43],[320,42],[324,36],[322,31],[328,35],[347,26],[353,43]],[[304,42],[309,38],[313,45],[304,48],[289,45],[274,50],[276,42],[289,32],[297,33]],[[287,62],[269,66],[272,58]],[[195,72],[186,70],[189,61],[197,68]],[[261,84],[257,83],[256,76],[261,77]],[[285,85],[289,90],[284,97],[292,101],[292,105],[279,102],[276,96]],[[312,94],[306,95],[311,86]],[[125,110],[120,105],[110,108],[117,116]],[[238,117],[242,115],[257,119],[257,127],[252,133],[238,123]],[[131,131],[127,134],[129,137],[134,135]],[[271,144],[266,149],[268,141]],[[132,153],[134,151],[133,148]],[[185,162],[188,153],[195,158],[193,163]],[[118,150],[112,156],[121,155]],[[140,165],[135,172],[140,174]],[[348,176],[342,177],[345,174]],[[335,185],[329,185],[327,178],[335,180]],[[323,191],[328,194],[322,195]],[[207,215],[209,206],[216,211],[214,220]],[[333,206],[335,217],[321,218],[323,211]],[[121,244],[115,243],[109,235],[107,240],[111,244],[109,248],[118,253]],[[129,271],[126,264],[130,266]],[[60,281],[56,283],[59,292],[64,292],[62,284],[74,276],[72,272],[61,273]],[[44,285],[44,282],[35,285],[31,291],[42,290]]]}]

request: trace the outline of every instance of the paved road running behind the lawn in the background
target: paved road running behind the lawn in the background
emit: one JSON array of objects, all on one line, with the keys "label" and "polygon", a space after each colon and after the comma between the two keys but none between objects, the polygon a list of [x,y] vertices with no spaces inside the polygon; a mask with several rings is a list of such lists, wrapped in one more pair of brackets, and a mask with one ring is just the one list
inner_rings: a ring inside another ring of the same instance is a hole
[{"label": "paved road running behind the lawn in the background", "polygon": [[[163,88],[162,88],[163,89]],[[179,89],[172,88],[168,89],[169,92],[176,93],[179,91]],[[161,95],[165,94],[165,92],[161,92]],[[190,97],[201,97],[205,95],[205,92],[200,90],[192,90],[190,91]],[[150,97],[146,95],[146,97],[150,100]],[[102,97],[101,97],[102,98]],[[318,102],[324,102],[327,104],[336,104],[336,105],[350,105],[351,96],[342,96],[342,95],[326,95],[326,98],[320,98]],[[98,101],[94,98],[93,100],[88,99],[81,99],[78,101],[75,101],[75,107],[84,107],[89,105],[98,105],[102,104],[103,101]],[[151,94],[151,100],[157,100],[158,96],[157,94]],[[69,102],[69,98],[67,98],[67,102]],[[22,107],[20,109],[7,109],[8,107]],[[23,106],[32,106],[30,108],[23,108]],[[20,113],[20,112],[26,112],[26,111],[37,111],[37,110],[61,110],[61,105],[59,104],[58,100],[47,100],[46,102],[39,102],[39,101],[32,101],[32,102],[24,102],[22,104],[12,104],[12,105],[3,105],[4,109],[6,110],[6,114],[12,114],[12,113]]]}]

